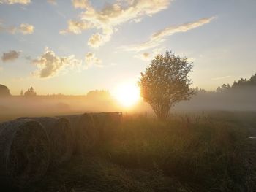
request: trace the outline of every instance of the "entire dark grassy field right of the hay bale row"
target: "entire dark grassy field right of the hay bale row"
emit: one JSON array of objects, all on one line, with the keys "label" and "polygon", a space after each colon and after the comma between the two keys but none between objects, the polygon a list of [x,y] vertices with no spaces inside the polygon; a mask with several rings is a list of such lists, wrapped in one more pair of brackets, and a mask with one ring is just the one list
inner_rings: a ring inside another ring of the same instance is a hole
[{"label": "entire dark grassy field right of the hay bale row", "polygon": [[225,115],[124,117],[97,148],[22,191],[253,191],[242,126],[254,118]]}]

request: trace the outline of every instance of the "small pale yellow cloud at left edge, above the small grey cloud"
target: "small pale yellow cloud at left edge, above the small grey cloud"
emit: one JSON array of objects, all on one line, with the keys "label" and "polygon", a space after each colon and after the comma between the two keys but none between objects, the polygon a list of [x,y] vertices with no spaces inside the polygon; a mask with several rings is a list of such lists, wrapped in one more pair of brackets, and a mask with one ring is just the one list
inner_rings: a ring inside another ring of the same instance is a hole
[{"label": "small pale yellow cloud at left edge, above the small grey cloud", "polygon": [[0,22],[0,32],[7,32],[10,34],[16,34],[20,32],[22,34],[33,34],[34,26],[29,25],[27,23],[21,23],[19,27],[14,26],[4,26],[3,22]]}]

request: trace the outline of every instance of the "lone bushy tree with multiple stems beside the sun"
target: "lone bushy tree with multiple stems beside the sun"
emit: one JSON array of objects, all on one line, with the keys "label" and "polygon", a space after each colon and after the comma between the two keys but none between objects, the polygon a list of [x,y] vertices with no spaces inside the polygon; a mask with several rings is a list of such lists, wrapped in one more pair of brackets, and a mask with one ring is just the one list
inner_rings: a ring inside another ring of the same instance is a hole
[{"label": "lone bushy tree with multiple stems beside the sun", "polygon": [[189,89],[192,81],[188,73],[191,71],[192,64],[187,58],[166,51],[165,55],[159,54],[151,61],[145,74],[140,73],[140,94],[159,120],[166,120],[171,107],[195,94],[195,90]]}]

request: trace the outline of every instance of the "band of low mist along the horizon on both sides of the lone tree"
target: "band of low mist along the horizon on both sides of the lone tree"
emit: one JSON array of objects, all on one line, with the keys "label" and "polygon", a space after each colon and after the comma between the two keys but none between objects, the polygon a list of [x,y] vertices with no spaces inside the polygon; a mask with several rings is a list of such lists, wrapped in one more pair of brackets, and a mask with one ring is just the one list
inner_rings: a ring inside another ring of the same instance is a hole
[{"label": "band of low mist along the horizon on both sides of the lone tree", "polygon": [[[208,111],[256,111],[256,89],[246,87],[228,91],[197,91],[189,101],[181,101],[170,113]],[[106,91],[91,91],[85,96],[8,96],[0,98],[0,120],[24,116],[54,116],[83,112],[122,111],[154,115],[143,99],[134,107],[123,107]]]}]

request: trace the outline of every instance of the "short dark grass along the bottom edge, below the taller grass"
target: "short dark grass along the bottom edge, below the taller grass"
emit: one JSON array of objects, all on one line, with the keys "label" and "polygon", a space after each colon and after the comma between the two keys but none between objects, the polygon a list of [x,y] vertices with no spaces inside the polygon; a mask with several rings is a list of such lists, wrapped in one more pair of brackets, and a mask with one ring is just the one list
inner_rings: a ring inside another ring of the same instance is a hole
[{"label": "short dark grass along the bottom edge, below the taller grass", "polygon": [[102,157],[86,156],[49,172],[47,177],[27,191],[184,191],[178,181],[158,169],[125,169]]}]

